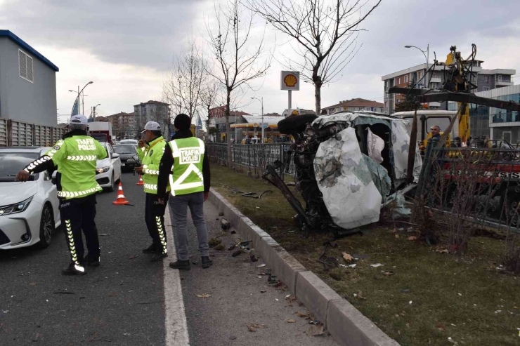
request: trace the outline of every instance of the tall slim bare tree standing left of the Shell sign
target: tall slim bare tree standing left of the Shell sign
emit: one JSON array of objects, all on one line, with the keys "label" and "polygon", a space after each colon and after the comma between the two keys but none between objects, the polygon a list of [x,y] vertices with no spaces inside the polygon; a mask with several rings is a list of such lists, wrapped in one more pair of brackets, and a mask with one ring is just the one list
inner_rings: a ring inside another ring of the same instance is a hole
[{"label": "tall slim bare tree standing left of the Shell sign", "polygon": [[271,66],[271,54],[261,62],[264,55],[264,36],[252,49],[254,27],[254,11],[247,10],[240,0],[228,0],[224,8],[215,6],[215,27],[206,23],[209,46],[218,68],[207,69],[226,89],[226,140],[228,141],[228,166],[233,166],[231,157],[230,136],[230,103],[233,91],[244,87],[251,88],[250,83],[266,74]]}]

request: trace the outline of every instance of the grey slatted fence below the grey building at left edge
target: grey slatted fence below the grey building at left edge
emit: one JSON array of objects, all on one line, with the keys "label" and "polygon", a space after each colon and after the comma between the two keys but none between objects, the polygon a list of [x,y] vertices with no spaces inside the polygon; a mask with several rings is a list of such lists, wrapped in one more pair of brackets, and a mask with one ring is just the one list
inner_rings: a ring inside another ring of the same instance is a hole
[{"label": "grey slatted fence below the grey building at left edge", "polygon": [[0,119],[0,147],[52,147],[65,132],[65,128]]}]

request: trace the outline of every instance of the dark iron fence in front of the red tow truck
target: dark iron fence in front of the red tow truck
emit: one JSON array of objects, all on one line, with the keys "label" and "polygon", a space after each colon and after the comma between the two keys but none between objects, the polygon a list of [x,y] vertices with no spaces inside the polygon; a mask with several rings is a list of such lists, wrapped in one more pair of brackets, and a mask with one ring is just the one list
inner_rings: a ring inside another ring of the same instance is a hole
[{"label": "dark iron fence in front of the red tow truck", "polygon": [[467,227],[462,222],[520,233],[520,149],[435,145],[424,155],[416,200],[448,214],[450,227]]}]

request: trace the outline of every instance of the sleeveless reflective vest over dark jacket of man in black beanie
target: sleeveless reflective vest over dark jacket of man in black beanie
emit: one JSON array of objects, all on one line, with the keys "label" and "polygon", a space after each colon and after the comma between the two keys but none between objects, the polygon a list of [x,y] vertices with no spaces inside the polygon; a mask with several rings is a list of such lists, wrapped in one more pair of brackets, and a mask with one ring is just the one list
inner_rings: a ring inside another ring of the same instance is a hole
[{"label": "sleeveless reflective vest over dark jacket of man in black beanie", "polygon": [[194,194],[204,191],[202,161],[204,142],[190,137],[169,142],[174,157],[174,168],[170,175],[171,195]]}]

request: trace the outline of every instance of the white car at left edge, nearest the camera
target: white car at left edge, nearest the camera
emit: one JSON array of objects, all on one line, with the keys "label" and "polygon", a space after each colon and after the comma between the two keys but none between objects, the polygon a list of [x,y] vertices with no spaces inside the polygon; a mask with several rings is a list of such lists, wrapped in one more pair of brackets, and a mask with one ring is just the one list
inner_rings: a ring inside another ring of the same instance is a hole
[{"label": "white car at left edge, nearest the camera", "polygon": [[60,226],[58,192],[47,172],[17,182],[15,177],[27,164],[41,157],[46,147],[0,149],[0,250],[51,244]]}]

